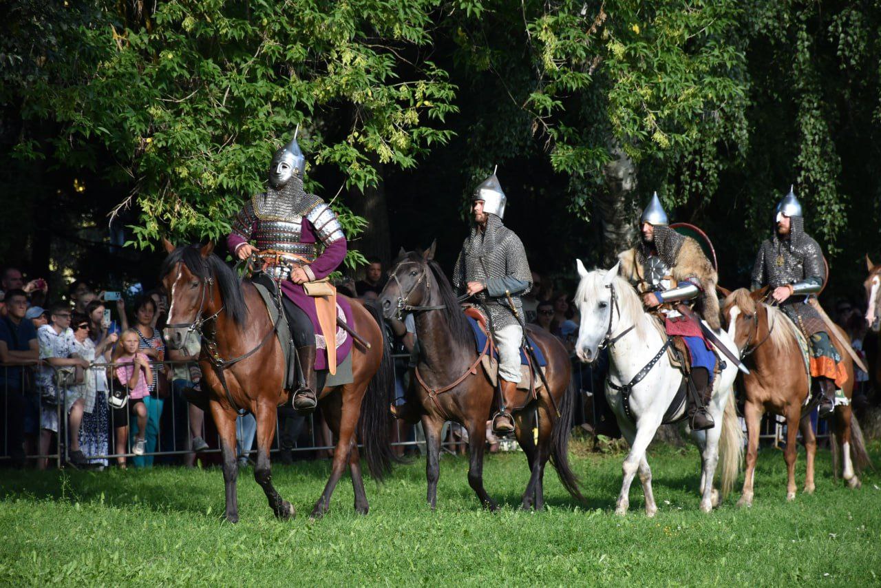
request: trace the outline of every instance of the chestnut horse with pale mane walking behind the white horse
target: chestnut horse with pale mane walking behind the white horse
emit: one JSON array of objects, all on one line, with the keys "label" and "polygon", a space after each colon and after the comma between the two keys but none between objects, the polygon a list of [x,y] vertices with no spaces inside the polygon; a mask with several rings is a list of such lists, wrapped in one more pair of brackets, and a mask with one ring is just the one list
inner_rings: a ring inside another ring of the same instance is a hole
[{"label": "chestnut horse with pale mane walking behind the white horse", "polygon": [[[816,405],[805,406],[810,394],[808,368],[798,342],[796,325],[780,309],[763,302],[765,295],[766,288],[754,292],[740,288],[722,302],[722,322],[727,325],[729,337],[734,340],[744,364],[750,370],[750,374],[741,376],[748,445],[744,489],[738,506],[752,506],[759,455],[759,425],[766,411],[780,414],[786,419],[786,450],[783,452],[788,474],[786,499],[792,501],[796,498],[796,435],[799,430],[807,459],[804,492],[812,494],[816,488],[814,457],[817,453],[817,436],[810,419]],[[839,330],[839,335],[847,341],[843,331]],[[839,340],[833,336],[829,339],[845,363],[848,381],[842,390],[849,399],[854,388],[854,363]],[[834,439],[841,445],[844,479],[848,487],[859,488],[860,479],[855,473],[854,464],[859,471],[870,462],[849,405],[835,407],[832,428]],[[833,455],[836,454],[833,443]]]}]

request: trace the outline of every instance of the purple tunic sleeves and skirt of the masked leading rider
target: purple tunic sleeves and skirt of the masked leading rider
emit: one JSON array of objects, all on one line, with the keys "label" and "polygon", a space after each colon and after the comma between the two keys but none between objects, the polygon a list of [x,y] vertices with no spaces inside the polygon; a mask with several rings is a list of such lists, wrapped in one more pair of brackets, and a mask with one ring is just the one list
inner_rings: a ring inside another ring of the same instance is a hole
[{"label": "purple tunic sleeves and skirt of the masked leading rider", "polygon": [[[254,232],[258,222],[260,221],[256,220],[251,226],[251,233]],[[306,217],[303,217],[300,227],[300,242],[318,242],[318,237],[315,234],[315,227]],[[233,252],[245,243],[247,243],[247,241],[240,234],[231,233],[226,237],[226,247]],[[344,238],[326,243],[326,247],[322,254],[316,257],[315,261],[308,265],[307,268],[315,276],[315,279],[326,278],[330,272],[337,269],[339,264],[343,263],[346,250],[347,245]],[[285,296],[306,312],[307,316],[309,316],[309,320],[312,321],[315,334],[323,336],[324,333],[322,333],[321,325],[318,324],[318,315],[315,311],[315,299],[306,294],[302,285],[295,284],[289,279],[282,282],[281,289]],[[343,309],[346,324],[353,324],[352,307],[349,304],[349,301],[345,300],[342,296],[337,296],[337,305]],[[349,350],[352,349],[352,337],[338,328],[337,333],[340,333],[340,339],[344,337],[340,346],[337,347],[337,365],[339,365],[343,362],[345,356],[349,354]],[[324,346],[325,348],[322,348],[322,341],[320,339],[318,339],[317,343],[318,348],[315,350],[315,369],[326,369],[328,365],[326,346]]]}]

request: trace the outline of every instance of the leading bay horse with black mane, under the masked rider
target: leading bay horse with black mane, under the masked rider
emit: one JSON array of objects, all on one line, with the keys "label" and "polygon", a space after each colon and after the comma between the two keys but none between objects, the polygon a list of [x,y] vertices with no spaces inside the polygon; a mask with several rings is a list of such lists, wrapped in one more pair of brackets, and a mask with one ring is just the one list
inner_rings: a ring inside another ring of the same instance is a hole
[{"label": "leading bay horse with black mane, under the masked rider", "polygon": [[[199,356],[203,391],[209,392],[211,416],[218,428],[226,485],[226,520],[239,520],[235,458],[235,420],[237,409],[255,415],[257,458],[254,478],[263,488],[275,516],[294,517],[296,512],[272,486],[270,446],[276,431],[278,406],[288,400],[285,383],[285,357],[263,298],[248,279],[239,279],[233,270],[213,253],[214,244],[174,248],[165,241],[168,256],[160,278],[168,293],[168,324],[165,337],[169,347],[181,348],[187,336],[202,336]],[[392,456],[388,400],[394,373],[391,348],[381,328],[376,309],[349,299],[352,329],[370,342],[370,348],[352,346],[354,380],[335,388],[325,387],[319,406],[337,439],[330,478],[315,502],[311,517],[322,517],[330,508],[330,496],[346,465],[352,473],[355,510],[366,514],[369,505],[361,477],[360,453],[356,441],[364,446],[364,457],[371,475],[381,480],[389,472]],[[222,358],[222,374],[228,394],[218,379],[218,368],[209,352]],[[232,401],[232,402],[231,402]]]}]

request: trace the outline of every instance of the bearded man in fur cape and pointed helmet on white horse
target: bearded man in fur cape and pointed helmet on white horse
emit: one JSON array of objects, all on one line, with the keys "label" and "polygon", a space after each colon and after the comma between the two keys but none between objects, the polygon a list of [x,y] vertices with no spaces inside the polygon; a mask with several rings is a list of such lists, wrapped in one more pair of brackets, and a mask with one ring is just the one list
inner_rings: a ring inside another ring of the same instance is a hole
[{"label": "bearded man in fur cape and pointed helmet on white horse", "polygon": [[662,307],[670,336],[682,337],[690,356],[693,390],[688,398],[688,421],[692,430],[713,428],[707,403],[713,392],[716,356],[700,324],[676,310],[679,303],[693,305],[714,331],[719,331],[719,299],[715,286],[718,275],[691,237],[668,226],[657,192],[640,217],[641,239],[636,247],[618,257],[621,275],[640,292],[647,309]]}]

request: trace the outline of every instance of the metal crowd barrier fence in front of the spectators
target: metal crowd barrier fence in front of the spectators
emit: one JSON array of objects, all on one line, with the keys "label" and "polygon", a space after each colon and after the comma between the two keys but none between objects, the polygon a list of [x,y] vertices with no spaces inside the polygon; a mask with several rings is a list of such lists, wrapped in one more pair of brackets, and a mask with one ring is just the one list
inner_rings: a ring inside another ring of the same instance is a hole
[{"label": "metal crowd barrier fence in front of the spectators", "polygon": [[[406,361],[410,355],[393,354],[392,357],[395,360],[396,396],[400,396],[405,385],[403,374],[406,373]],[[133,449],[137,417],[132,415],[131,399],[130,404],[122,411],[107,406],[107,395],[121,386],[112,371],[123,365],[131,366],[130,363],[93,364],[92,368],[85,370],[83,383],[57,388],[55,402],[52,402],[51,395],[44,393],[45,386],[41,386],[38,380],[45,383],[47,377],[54,378],[56,368],[45,363],[35,367],[0,364],[0,391],[3,397],[0,402],[3,411],[0,414],[0,460],[36,459],[44,467],[50,462],[61,467],[70,459],[71,445],[83,445],[86,441],[89,445],[89,450],[85,451],[86,458],[90,464],[96,466],[110,465],[113,461],[123,459],[133,459],[135,465],[152,465],[156,458],[167,464],[192,465],[196,458],[196,452],[192,448],[195,437],[213,442],[209,443],[209,449],[198,451],[198,455],[211,457],[212,454],[219,454],[216,432],[214,435],[209,434],[214,430],[211,419],[205,419],[202,411],[190,405],[182,396],[182,388],[191,384],[198,372],[197,363],[151,361],[154,381],[159,391],[152,391],[144,399],[147,412],[144,438],[147,440],[147,448],[144,455],[136,456]],[[595,388],[602,391],[602,379],[597,382],[595,376],[603,378],[604,374],[602,370],[597,371],[594,365],[584,365],[577,361],[574,361],[573,367],[574,387],[578,395],[572,424],[589,423],[596,431],[597,420],[602,415],[597,413]],[[48,372],[42,377],[36,376],[36,370],[40,369],[51,370],[52,376]],[[93,405],[91,411],[84,412],[82,420],[77,423],[76,419],[70,418],[70,408],[74,404],[71,398],[85,397],[83,399],[87,400],[88,392],[84,391],[88,389],[94,391]],[[389,398],[389,401],[393,399]],[[329,457],[328,452],[334,450],[335,446],[331,443],[332,435],[320,415],[316,417],[316,414],[310,414],[304,417],[292,416],[287,411],[281,412],[270,450],[272,453],[290,451],[293,455],[313,452],[316,458]],[[44,428],[46,424],[56,425],[56,430],[49,433]],[[425,451],[424,437],[420,441],[421,426],[404,427],[397,422],[393,426],[396,428],[396,441],[392,443],[394,447]],[[818,438],[829,435],[824,426],[825,423],[821,421]],[[814,427],[817,430],[816,421]],[[119,433],[119,429],[123,433]],[[70,433],[73,430],[78,431],[79,443],[72,443]],[[256,452],[252,449],[254,430],[255,421],[250,414],[237,421],[237,444],[240,445],[239,453],[243,457]],[[762,440],[772,440],[774,446],[779,446],[785,439],[785,425],[781,418],[766,414],[759,437]],[[450,423],[443,437],[442,449],[455,453],[456,450],[463,450],[466,443],[467,433],[460,426]],[[22,445],[25,446],[24,451],[20,451]]]}]

